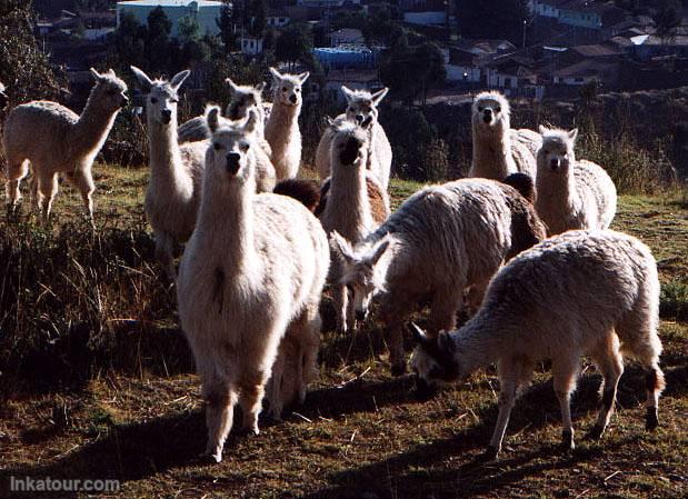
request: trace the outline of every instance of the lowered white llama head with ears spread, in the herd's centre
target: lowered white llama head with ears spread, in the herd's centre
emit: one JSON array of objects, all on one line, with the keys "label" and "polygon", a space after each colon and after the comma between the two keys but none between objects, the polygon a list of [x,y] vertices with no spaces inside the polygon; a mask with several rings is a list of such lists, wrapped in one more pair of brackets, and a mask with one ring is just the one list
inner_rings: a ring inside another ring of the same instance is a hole
[{"label": "lowered white llama head with ears spread, in the herd's centre", "polygon": [[[330,247],[341,262],[340,283],[352,295],[357,320],[366,320],[372,298],[383,291],[386,266],[382,258],[391,253],[395,240],[391,236],[377,241],[372,247],[361,244],[352,248],[351,243],[337,231],[330,234]],[[383,268],[385,267],[385,268]]]}]

